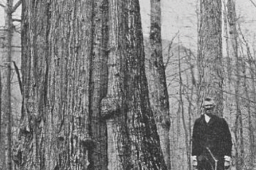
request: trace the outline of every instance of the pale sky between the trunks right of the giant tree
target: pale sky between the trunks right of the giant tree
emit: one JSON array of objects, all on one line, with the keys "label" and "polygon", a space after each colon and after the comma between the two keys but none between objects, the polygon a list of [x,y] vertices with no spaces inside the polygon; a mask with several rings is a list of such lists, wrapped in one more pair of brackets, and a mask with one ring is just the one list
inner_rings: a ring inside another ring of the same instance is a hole
[{"label": "pale sky between the trunks right of the giant tree", "polygon": [[[243,22],[242,30],[256,33],[256,0],[235,0],[237,16]],[[226,2],[226,0],[222,1]],[[178,33],[179,41],[190,48],[197,48],[197,4],[199,0],[161,0],[162,38],[172,40]],[[150,1],[140,0],[144,36],[150,31]],[[255,30],[255,31],[254,31]],[[178,41],[176,38],[175,41]]]}]

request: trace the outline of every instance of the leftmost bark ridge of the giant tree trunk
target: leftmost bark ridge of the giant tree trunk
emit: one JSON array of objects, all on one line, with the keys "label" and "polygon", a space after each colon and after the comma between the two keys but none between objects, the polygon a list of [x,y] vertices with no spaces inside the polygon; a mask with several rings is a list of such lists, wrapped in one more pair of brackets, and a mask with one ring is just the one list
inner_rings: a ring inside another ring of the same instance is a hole
[{"label": "leftmost bark ridge of the giant tree trunk", "polygon": [[[44,169],[49,73],[49,4],[24,1],[22,23],[23,106],[20,169]],[[52,160],[53,161],[53,160]]]}]

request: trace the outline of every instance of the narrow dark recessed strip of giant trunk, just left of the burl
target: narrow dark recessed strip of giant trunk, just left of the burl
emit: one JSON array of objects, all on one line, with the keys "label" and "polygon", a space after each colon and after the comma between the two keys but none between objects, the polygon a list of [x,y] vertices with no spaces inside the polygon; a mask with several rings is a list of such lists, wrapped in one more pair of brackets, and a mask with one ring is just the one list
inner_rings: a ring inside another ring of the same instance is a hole
[{"label": "narrow dark recessed strip of giant trunk, just left of the burl", "polygon": [[102,121],[100,102],[108,90],[108,0],[92,1],[92,54],[90,73],[90,136],[95,147],[90,150],[90,169],[108,167],[106,122]]}]

